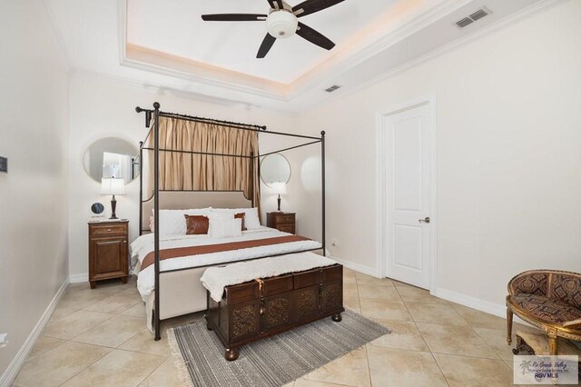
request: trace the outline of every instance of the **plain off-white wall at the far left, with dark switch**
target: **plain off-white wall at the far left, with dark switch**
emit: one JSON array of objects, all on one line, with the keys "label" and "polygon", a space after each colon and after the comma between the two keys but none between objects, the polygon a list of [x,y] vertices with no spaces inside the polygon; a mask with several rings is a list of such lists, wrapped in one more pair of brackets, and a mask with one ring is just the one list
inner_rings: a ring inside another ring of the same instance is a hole
[{"label": "plain off-white wall at the far left, with dark switch", "polygon": [[0,25],[0,155],[9,167],[0,173],[3,384],[68,273],[68,81],[42,1],[2,2]]}]

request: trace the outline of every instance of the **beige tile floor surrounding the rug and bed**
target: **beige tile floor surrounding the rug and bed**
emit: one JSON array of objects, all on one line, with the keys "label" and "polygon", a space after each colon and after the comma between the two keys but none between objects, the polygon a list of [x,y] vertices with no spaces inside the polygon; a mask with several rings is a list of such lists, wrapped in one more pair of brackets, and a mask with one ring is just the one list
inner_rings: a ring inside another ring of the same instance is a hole
[{"label": "beige tile floor surrounding the rug and bed", "polygon": [[[506,322],[389,279],[345,269],[346,307],[393,330],[287,386],[512,385]],[[165,329],[201,319],[193,313]],[[165,338],[153,341],[127,284],[69,285],[14,385],[180,386]],[[517,329],[532,329],[516,324]]]}]

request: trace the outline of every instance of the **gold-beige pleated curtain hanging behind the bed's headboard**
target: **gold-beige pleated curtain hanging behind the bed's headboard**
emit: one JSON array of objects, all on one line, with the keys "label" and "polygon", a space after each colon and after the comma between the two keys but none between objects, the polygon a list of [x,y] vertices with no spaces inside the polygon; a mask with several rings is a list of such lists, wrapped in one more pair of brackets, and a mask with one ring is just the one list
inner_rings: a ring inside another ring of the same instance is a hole
[{"label": "gold-beige pleated curtain hanging behind the bed's headboard", "polygon": [[[154,120],[152,120],[153,129]],[[258,133],[221,124],[159,117],[160,149],[172,151],[258,155]],[[148,138],[153,148],[153,132]],[[149,192],[153,193],[153,151],[149,151]],[[251,163],[252,176],[251,176]],[[160,191],[242,191],[259,207],[258,158],[160,151]]]}]

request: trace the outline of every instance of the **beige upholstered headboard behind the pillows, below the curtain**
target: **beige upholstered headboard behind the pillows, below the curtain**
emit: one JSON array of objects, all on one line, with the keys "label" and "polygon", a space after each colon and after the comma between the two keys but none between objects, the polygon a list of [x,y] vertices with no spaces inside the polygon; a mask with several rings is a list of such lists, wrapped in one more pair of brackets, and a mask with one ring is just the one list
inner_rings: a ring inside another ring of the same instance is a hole
[{"label": "beige upholstered headboard behind the pillows, below the curtain", "polygon": [[[142,203],[142,230],[149,231],[149,217],[153,197]],[[160,191],[161,210],[188,210],[191,208],[248,208],[251,200],[241,191]]]}]

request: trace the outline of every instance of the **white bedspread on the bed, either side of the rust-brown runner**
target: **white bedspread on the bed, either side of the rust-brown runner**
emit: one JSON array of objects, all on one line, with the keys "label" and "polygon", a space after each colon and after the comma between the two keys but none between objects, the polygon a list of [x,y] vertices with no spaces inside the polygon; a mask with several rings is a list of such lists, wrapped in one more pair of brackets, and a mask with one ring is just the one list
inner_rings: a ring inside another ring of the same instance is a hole
[{"label": "white bedspread on the bed, either side of the rust-brown runner", "polygon": [[[251,241],[257,239],[275,238],[278,236],[291,235],[282,233],[269,227],[261,227],[254,230],[242,232],[241,237],[235,238],[212,238],[208,235],[162,235],[160,237],[160,249],[172,249],[177,247],[200,246],[204,244],[232,243],[241,241]],[[251,258],[260,258],[263,256],[297,253],[310,249],[317,249],[322,245],[317,241],[300,241],[291,243],[279,243],[268,246],[251,247],[248,249],[232,250],[221,253],[207,253],[199,255],[189,255],[179,258],[162,260],[160,270],[174,270],[186,267],[199,267],[220,263],[231,263],[236,261],[247,260]],[[152,253],[153,233],[139,236],[131,243],[133,273],[137,277],[137,289],[142,294],[143,301],[153,292],[155,287],[154,265],[149,265],[143,271],[140,271],[141,263],[148,253]]]}]

